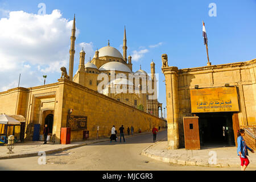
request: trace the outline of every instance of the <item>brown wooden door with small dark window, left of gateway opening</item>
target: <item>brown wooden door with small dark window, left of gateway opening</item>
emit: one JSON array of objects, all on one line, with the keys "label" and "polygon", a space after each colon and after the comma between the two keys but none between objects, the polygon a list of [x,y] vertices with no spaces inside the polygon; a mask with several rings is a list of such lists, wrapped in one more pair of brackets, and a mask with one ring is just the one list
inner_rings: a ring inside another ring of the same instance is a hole
[{"label": "brown wooden door with small dark window, left of gateway opening", "polygon": [[198,116],[183,117],[185,148],[187,150],[200,150]]}]

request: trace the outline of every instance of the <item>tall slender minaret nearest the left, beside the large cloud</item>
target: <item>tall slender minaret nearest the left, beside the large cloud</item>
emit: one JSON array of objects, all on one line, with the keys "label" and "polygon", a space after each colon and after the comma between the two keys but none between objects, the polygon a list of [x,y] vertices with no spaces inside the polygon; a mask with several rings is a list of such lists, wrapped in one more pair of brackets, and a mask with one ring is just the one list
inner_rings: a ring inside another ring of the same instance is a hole
[{"label": "tall slender minaret nearest the left, beside the large cloud", "polygon": [[71,35],[71,46],[69,50],[69,80],[73,81],[73,69],[74,69],[74,55],[75,55],[75,40],[76,40],[76,15],[74,15],[72,35]]}]

